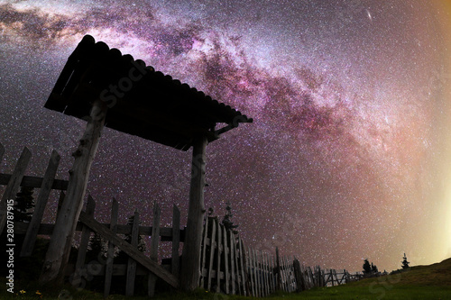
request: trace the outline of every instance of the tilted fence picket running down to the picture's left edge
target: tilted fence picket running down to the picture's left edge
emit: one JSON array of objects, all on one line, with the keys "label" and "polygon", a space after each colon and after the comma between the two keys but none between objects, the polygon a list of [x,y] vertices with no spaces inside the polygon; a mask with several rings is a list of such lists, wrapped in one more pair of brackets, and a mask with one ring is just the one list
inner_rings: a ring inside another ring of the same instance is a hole
[{"label": "tilted fence picket running down to the picture's left edge", "polygon": [[8,200],[14,200],[15,195],[19,191],[19,186],[23,178],[23,174],[25,173],[26,168],[28,167],[28,163],[32,158],[32,152],[28,150],[28,148],[23,148],[22,154],[17,160],[17,164],[15,165],[13,175],[11,176],[8,184],[5,188],[5,192],[2,196],[2,200],[0,200],[0,233],[3,232],[6,224],[6,202]]}]

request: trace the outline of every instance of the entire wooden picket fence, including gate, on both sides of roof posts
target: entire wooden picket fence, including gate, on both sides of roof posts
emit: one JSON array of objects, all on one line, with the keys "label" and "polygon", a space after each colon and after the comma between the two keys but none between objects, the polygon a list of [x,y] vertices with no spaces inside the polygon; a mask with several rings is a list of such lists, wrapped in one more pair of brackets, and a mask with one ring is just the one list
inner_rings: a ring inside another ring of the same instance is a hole
[{"label": "entire wooden picket fence, including gate, on both sides of roof posts", "polygon": [[[0,162],[5,153],[0,144]],[[6,200],[14,199],[20,186],[39,188],[32,220],[30,223],[14,223],[16,234],[25,234],[20,256],[32,254],[38,234],[51,236],[54,224],[41,223],[45,206],[51,189],[60,190],[59,203],[64,200],[64,191],[68,181],[55,179],[60,155],[51,153],[48,168],[43,177],[25,176],[24,172],[31,158],[31,152],[24,149],[12,174],[0,173],[0,185],[6,186],[0,202],[0,232],[6,222]],[[83,287],[89,278],[104,278],[104,295],[110,293],[112,277],[125,276],[125,295],[134,294],[135,277],[147,275],[148,295],[153,295],[157,278],[163,279],[170,286],[178,286],[179,247],[184,241],[185,230],[180,230],[179,209],[174,205],[172,227],[161,227],[161,210],[154,204],[152,226],[140,226],[140,214],[134,213],[133,224],[118,224],[118,203],[113,199],[110,223],[98,223],[94,219],[95,201],[88,195],[87,208],[78,218],[76,231],[81,232],[78,257],[75,265],[69,265],[66,275],[74,286]],[[59,205],[60,207],[60,205]],[[57,212],[58,214],[58,212]],[[86,261],[87,245],[93,232],[108,241],[106,259],[98,257]],[[131,243],[124,241],[117,234],[129,234]],[[138,236],[150,236],[150,256],[145,256],[137,249]],[[158,237],[158,238],[154,238]],[[160,241],[171,242],[170,259],[159,258]],[[115,247],[127,254],[126,264],[115,264]],[[299,259],[292,256],[280,256],[276,248],[275,255],[253,248],[245,247],[244,241],[234,232],[226,230],[217,217],[207,216],[202,233],[199,286],[213,292],[228,295],[266,296],[277,290],[300,292],[314,286],[336,286],[358,280],[361,274],[350,274],[346,270],[321,269],[305,267]]]}]

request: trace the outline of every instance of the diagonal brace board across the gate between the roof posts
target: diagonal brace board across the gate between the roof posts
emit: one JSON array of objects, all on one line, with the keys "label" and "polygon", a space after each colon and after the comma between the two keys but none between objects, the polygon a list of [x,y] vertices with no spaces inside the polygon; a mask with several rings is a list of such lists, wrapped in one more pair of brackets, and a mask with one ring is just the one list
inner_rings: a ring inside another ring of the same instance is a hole
[{"label": "diagonal brace board across the gate between the roof posts", "polygon": [[87,224],[93,231],[99,233],[106,239],[107,241],[112,241],[115,246],[117,246],[120,250],[123,250],[128,256],[132,257],[134,260],[143,265],[143,267],[149,269],[153,274],[160,277],[162,280],[170,284],[170,286],[178,288],[179,280],[177,277],[174,277],[170,274],[169,271],[165,270],[161,266],[159,266],[156,262],[147,258],[142,252],[133,248],[131,244],[124,241],[120,237],[116,236],[111,230],[109,230],[106,226],[98,223],[94,218],[89,217],[84,212],[81,212],[79,216],[79,220],[82,223]]}]

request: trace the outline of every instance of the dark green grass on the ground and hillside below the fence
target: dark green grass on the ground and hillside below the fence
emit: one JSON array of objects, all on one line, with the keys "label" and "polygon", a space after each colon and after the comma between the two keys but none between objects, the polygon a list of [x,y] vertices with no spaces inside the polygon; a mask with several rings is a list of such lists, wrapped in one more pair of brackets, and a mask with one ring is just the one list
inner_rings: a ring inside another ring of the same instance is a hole
[{"label": "dark green grass on the ground and hillside below the fence", "polygon": [[[42,287],[35,283],[14,285],[14,295],[6,292],[5,277],[0,279],[0,299],[104,299],[100,293],[88,290],[76,290],[71,286]],[[20,294],[23,290],[26,293]],[[36,294],[39,291],[39,294]],[[133,296],[133,299],[148,299],[146,296]],[[124,295],[110,295],[107,299],[130,299]],[[229,296],[210,293],[198,289],[191,293],[159,294],[154,299],[212,299],[235,300],[249,299],[244,296]],[[302,293],[276,293],[267,299],[377,299],[377,300],[415,300],[415,299],[451,299],[451,259],[430,266],[418,266],[389,276],[368,278],[342,286],[314,288]]]}]

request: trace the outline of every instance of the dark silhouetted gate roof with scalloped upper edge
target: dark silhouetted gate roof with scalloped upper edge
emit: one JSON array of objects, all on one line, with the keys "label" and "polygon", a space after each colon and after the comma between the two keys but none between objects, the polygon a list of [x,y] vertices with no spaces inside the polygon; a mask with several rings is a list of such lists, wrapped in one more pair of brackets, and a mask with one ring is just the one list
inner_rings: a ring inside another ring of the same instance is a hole
[{"label": "dark silhouetted gate roof with scalloped upper edge", "polygon": [[[86,119],[97,100],[109,108],[106,127],[189,150],[198,135],[219,134],[253,119],[188,84],[146,66],[143,60],[83,37],[61,71],[46,108]],[[216,129],[217,123],[226,123]]]}]

